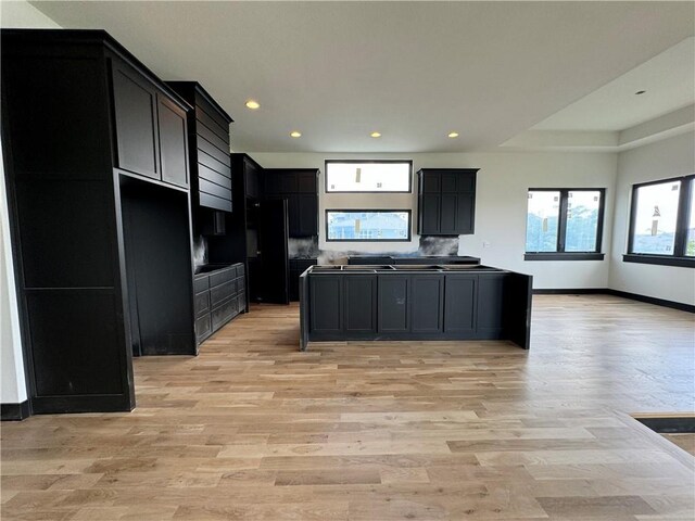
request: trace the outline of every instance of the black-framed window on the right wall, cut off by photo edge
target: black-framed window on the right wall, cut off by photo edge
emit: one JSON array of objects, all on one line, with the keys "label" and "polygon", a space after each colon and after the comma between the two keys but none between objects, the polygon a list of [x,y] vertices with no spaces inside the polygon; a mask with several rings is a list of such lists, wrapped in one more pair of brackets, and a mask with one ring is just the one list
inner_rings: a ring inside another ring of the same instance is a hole
[{"label": "black-framed window on the right wall, cut off by photo edge", "polygon": [[632,187],[623,260],[695,267],[695,176]]}]

